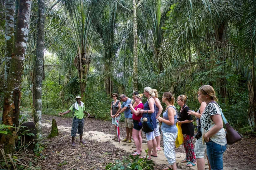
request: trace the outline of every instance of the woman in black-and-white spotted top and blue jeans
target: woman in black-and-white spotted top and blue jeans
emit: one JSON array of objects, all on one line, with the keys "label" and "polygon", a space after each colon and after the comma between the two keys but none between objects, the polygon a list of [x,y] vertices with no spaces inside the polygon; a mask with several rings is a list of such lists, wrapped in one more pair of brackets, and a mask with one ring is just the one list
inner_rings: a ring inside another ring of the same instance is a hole
[{"label": "woman in black-and-white spotted top and blue jeans", "polygon": [[199,88],[199,97],[207,105],[201,116],[203,144],[206,143],[207,156],[212,170],[223,169],[223,153],[227,148],[226,133],[223,128],[218,99],[210,85]]}]

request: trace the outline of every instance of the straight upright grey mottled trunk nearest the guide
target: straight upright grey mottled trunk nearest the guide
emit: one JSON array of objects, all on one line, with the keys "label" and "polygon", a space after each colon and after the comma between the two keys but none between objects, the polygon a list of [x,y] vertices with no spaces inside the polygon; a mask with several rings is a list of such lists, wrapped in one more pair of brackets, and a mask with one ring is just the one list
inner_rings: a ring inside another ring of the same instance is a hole
[{"label": "straight upright grey mottled trunk nearest the guide", "polygon": [[35,62],[35,111],[34,123],[37,127],[37,138],[41,140],[42,124],[42,81],[44,65],[44,39],[45,39],[45,0],[38,0],[38,23],[36,40],[36,62]]}]

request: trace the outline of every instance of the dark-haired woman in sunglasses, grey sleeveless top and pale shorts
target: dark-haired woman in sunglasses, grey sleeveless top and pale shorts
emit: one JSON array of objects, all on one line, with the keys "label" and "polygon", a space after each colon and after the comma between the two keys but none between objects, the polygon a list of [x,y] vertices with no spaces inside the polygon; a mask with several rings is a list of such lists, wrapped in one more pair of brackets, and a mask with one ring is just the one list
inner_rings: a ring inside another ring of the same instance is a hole
[{"label": "dark-haired woman in sunglasses, grey sleeveless top and pale shorts", "polygon": [[[121,102],[118,100],[118,94],[113,93],[112,94],[113,101],[111,102],[111,109],[110,109],[110,116],[112,117],[117,113],[117,111],[121,108]],[[115,137],[112,140],[118,141],[117,134],[116,134],[116,125],[115,125],[115,120],[117,119],[118,121],[120,120],[121,116],[118,117],[112,117],[112,125],[115,127]]]}]

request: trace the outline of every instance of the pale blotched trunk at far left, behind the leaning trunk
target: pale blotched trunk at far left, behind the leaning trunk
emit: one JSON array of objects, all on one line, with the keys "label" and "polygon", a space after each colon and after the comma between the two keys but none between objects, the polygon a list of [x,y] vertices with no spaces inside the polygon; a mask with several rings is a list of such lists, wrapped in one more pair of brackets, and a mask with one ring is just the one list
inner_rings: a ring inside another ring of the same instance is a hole
[{"label": "pale blotched trunk at far left, behind the leaning trunk", "polygon": [[6,91],[12,48],[14,42],[14,18],[15,18],[15,0],[6,0],[5,2],[5,68],[4,68],[4,86]]}]

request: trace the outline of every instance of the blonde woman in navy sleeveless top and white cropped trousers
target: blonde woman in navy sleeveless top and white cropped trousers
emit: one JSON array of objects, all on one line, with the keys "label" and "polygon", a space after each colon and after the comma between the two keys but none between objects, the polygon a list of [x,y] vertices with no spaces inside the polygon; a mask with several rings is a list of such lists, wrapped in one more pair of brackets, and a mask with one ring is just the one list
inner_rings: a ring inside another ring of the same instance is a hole
[{"label": "blonde woman in navy sleeveless top and white cropped trousers", "polygon": [[[148,98],[147,102],[144,104],[144,110],[139,110],[141,114],[143,114],[143,117],[147,117],[148,121],[153,125],[154,128],[156,128],[156,119],[155,119],[155,93],[152,92],[152,89],[150,87],[144,88],[144,93],[143,93],[146,98]],[[147,116],[146,116],[147,115]],[[156,140],[154,136],[154,131],[146,133],[146,138],[148,141],[148,160],[151,159],[151,156],[157,157],[156,154]],[[152,154],[152,148],[154,149]],[[145,156],[143,156],[145,158]]]}]

